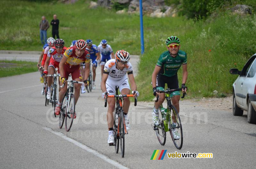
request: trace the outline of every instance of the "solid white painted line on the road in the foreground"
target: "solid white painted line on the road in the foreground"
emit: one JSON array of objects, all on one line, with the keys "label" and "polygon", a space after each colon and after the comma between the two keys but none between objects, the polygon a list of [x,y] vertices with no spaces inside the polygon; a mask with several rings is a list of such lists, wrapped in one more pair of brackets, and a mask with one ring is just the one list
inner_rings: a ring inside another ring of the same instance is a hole
[{"label": "solid white painted line on the road in the foreground", "polygon": [[95,155],[95,156],[97,156],[97,157],[100,157],[100,158],[103,159],[104,161],[106,161],[106,162],[108,162],[108,163],[110,163],[110,164],[116,166],[117,168],[120,168],[120,169],[129,169],[129,168],[127,168],[126,166],[124,166],[124,165],[122,165],[122,164],[120,164],[120,163],[118,163],[118,162],[116,162],[116,161],[114,161],[114,160],[108,158],[107,156],[105,156],[105,155],[103,155],[103,154],[100,154],[98,151],[93,150],[93,149],[87,147],[86,145],[84,145],[84,144],[82,144],[82,143],[80,143],[80,142],[77,142],[76,140],[74,140],[74,139],[72,139],[72,138],[67,137],[67,136],[66,136],[65,134],[63,134],[63,133],[60,133],[60,132],[57,132],[57,131],[53,131],[51,128],[48,128],[48,127],[42,127],[42,128],[43,128],[44,130],[47,130],[47,131],[49,131],[49,132],[51,132],[51,133],[53,133],[53,134],[56,134],[56,135],[60,136],[61,138],[67,140],[68,142],[71,142],[71,143],[75,144],[76,146],[78,146],[78,147],[80,147],[80,148],[82,148],[82,149],[88,151],[89,153],[92,153],[93,155]]}]

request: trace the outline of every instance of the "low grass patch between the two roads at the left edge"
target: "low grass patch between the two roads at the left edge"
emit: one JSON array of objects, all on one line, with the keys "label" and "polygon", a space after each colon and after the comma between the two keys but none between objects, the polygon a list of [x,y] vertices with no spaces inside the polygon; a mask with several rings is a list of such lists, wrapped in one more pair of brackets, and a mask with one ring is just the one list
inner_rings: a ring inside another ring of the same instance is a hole
[{"label": "low grass patch between the two roads at the left edge", "polygon": [[36,72],[36,62],[0,60],[0,77]]}]

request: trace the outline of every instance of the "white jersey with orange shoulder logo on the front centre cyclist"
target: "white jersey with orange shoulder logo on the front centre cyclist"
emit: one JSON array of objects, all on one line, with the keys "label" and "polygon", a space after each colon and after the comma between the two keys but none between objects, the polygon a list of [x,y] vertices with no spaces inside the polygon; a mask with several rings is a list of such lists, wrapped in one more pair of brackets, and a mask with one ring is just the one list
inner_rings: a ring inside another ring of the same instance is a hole
[{"label": "white jersey with orange shoulder logo on the front centre cyclist", "polygon": [[110,59],[106,62],[103,73],[108,74],[108,80],[118,81],[122,78],[127,78],[126,73],[132,74],[132,64],[128,62],[124,70],[118,70],[116,68],[116,59]]}]

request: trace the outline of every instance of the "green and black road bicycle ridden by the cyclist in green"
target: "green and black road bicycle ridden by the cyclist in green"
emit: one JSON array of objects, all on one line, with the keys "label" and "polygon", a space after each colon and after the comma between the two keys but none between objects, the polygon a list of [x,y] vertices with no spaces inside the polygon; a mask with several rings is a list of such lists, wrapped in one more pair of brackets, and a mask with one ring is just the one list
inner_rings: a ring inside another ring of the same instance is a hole
[{"label": "green and black road bicycle ridden by the cyclist in green", "polygon": [[[160,125],[156,126],[155,124],[151,124],[152,128],[156,131],[156,136],[161,145],[164,145],[166,142],[166,132],[170,132],[172,141],[177,149],[182,148],[183,144],[183,132],[182,132],[182,125],[180,121],[180,115],[177,109],[172,105],[171,98],[174,97],[172,92],[175,91],[182,91],[182,88],[177,89],[170,89],[167,88],[166,90],[159,91],[158,93],[165,93],[165,98],[167,101],[167,108],[164,109],[163,104],[160,105],[159,110],[161,111],[161,115],[159,115]],[[181,98],[184,98],[186,93],[183,93]],[[156,97],[156,102],[158,102],[159,96]],[[173,125],[173,121],[176,121],[176,126]],[[173,137],[172,132],[177,130],[178,134],[180,135],[180,139],[175,139]]]}]

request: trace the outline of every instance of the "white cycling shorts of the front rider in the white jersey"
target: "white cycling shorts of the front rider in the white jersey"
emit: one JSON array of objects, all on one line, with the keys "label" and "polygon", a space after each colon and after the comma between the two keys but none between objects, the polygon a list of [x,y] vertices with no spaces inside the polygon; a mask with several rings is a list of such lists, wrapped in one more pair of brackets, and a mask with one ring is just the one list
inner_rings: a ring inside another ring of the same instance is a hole
[{"label": "white cycling shorts of the front rider in the white jersey", "polygon": [[[130,85],[128,82],[128,78],[123,78],[118,81],[108,80],[106,81],[106,88],[110,95],[116,95],[116,86],[119,87],[119,91],[121,93],[122,89],[128,88],[130,89]],[[119,94],[120,94],[119,93]]]}]

